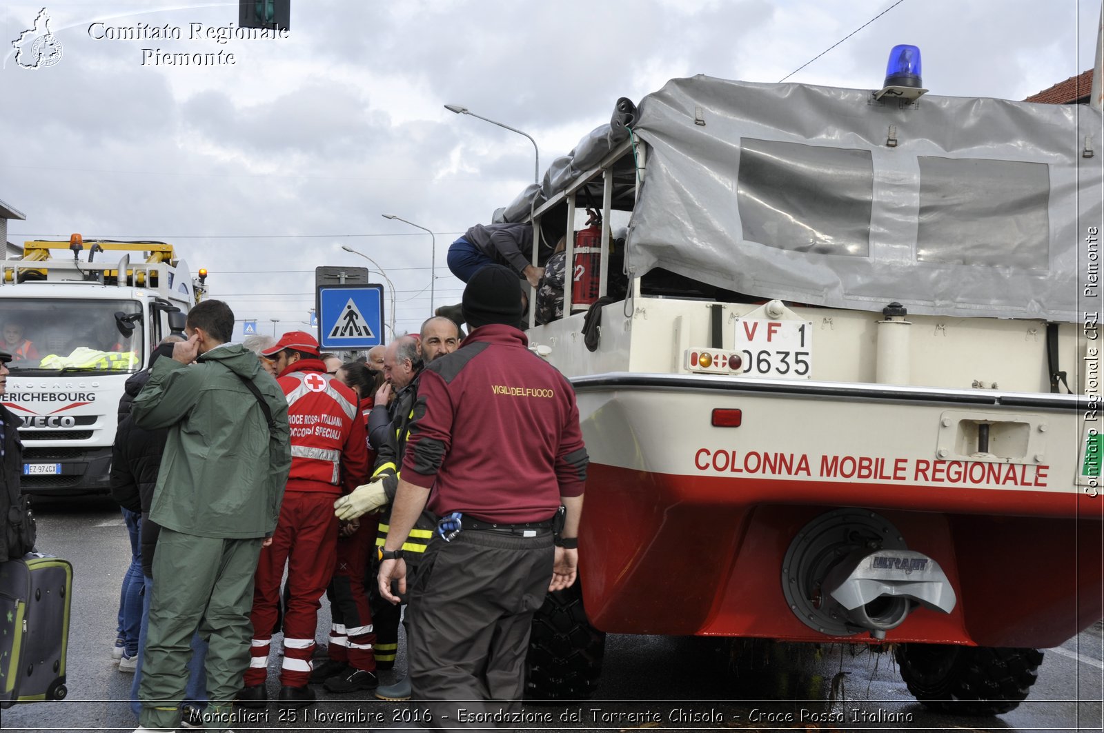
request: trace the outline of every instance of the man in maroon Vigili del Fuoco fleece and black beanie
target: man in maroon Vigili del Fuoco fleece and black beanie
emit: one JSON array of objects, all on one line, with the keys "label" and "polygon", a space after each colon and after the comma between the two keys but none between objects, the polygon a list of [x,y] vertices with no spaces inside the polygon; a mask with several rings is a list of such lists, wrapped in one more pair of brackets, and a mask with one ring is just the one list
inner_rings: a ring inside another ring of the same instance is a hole
[{"label": "man in maroon Vigili del Fuoco fleece and black beanie", "polygon": [[442,517],[411,588],[407,651],[414,698],[449,727],[520,712],[533,614],[575,581],[587,465],[571,384],[517,328],[518,276],[480,269],[463,308],[464,346],[422,373],[379,577],[395,603],[406,533],[423,507]]}]

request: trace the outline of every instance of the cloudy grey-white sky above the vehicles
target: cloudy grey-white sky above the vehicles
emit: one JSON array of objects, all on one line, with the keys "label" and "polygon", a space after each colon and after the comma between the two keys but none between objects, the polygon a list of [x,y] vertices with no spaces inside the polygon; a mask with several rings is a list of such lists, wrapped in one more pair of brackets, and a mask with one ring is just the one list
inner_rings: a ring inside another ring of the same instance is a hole
[{"label": "cloudy grey-white sky above the vehicles", "polygon": [[[9,240],[170,242],[210,270],[213,297],[269,333],[302,327],[316,266],[368,265],[343,245],[394,283],[396,330],[417,328],[431,237],[384,213],[434,233],[436,305],[459,301],[448,245],[531,182],[534,150],[445,104],[526,130],[543,172],[617,97],[699,73],[777,82],[883,12],[788,81],[878,88],[890,47],[912,43],[933,94],[1022,99],[1092,67],[1101,11],[1096,0],[291,0],[288,38],[219,43],[190,36],[236,25],[235,2],[70,0],[45,6],[60,61],[22,68],[10,42],[42,8],[0,7],[0,200],[26,214]],[[166,25],[180,40],[96,38]],[[220,51],[234,63],[155,63]]]}]

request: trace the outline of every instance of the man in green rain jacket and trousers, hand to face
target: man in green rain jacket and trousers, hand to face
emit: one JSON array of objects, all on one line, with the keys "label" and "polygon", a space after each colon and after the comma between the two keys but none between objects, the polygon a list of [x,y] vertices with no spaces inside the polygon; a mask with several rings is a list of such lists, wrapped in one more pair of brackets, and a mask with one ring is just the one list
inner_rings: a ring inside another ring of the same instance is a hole
[{"label": "man in green rain jacket and trousers, hand to face", "polygon": [[169,428],[149,514],[161,533],[139,730],[180,724],[197,630],[208,642],[204,727],[227,726],[250,663],[253,577],[276,528],[291,449],[284,393],[254,353],[227,343],[233,329],[226,304],[197,305],[188,340],[157,361],[134,402],[137,425]]}]

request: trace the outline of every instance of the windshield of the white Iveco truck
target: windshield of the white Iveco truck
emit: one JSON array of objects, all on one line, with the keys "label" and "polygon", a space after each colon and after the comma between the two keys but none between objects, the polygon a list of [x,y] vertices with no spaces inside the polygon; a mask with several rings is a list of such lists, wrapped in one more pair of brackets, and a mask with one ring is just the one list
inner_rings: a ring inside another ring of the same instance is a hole
[{"label": "windshield of the white Iveco truck", "polygon": [[13,373],[134,372],[146,351],[141,312],[136,300],[4,299],[0,349]]}]

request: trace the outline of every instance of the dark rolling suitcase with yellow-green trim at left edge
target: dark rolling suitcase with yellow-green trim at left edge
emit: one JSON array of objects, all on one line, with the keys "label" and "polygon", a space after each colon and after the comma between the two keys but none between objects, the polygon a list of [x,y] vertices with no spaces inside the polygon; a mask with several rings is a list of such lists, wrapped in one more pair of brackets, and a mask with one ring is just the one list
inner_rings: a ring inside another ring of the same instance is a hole
[{"label": "dark rolling suitcase with yellow-green trim at left edge", "polygon": [[65,698],[73,565],[38,553],[0,563],[0,709]]}]

